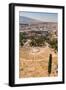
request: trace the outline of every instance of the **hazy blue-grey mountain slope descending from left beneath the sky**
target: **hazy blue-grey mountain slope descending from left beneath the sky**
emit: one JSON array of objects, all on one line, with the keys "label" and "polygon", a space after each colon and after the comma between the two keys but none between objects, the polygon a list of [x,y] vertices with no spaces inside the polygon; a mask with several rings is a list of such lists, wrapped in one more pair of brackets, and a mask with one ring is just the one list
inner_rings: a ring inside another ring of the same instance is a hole
[{"label": "hazy blue-grey mountain slope descending from left beneath the sky", "polygon": [[19,23],[20,24],[33,24],[33,23],[35,24],[35,23],[40,23],[40,22],[42,22],[42,21],[28,18],[28,17],[24,17],[24,16],[19,16]]}]

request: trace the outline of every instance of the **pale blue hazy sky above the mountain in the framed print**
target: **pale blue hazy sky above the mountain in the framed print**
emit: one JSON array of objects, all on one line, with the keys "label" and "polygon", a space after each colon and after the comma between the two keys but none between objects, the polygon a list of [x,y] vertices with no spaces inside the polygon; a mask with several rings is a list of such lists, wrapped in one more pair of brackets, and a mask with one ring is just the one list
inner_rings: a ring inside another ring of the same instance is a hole
[{"label": "pale blue hazy sky above the mountain in the framed print", "polygon": [[57,22],[58,21],[57,13],[20,11],[19,16],[29,17],[29,18],[40,20],[40,21],[46,21],[46,22]]}]

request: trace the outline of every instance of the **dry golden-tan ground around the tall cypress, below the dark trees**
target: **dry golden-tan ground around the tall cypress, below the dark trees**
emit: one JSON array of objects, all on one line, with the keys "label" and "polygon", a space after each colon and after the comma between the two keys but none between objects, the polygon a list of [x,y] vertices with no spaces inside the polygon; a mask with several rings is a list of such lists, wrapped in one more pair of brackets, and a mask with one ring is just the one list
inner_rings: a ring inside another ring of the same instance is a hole
[{"label": "dry golden-tan ground around the tall cypress, below the dark trees", "polygon": [[33,53],[32,47],[20,47],[19,49],[19,78],[48,77],[49,54],[52,54],[52,72],[50,76],[57,76],[56,67],[58,56],[49,47],[39,47],[39,52]]}]

